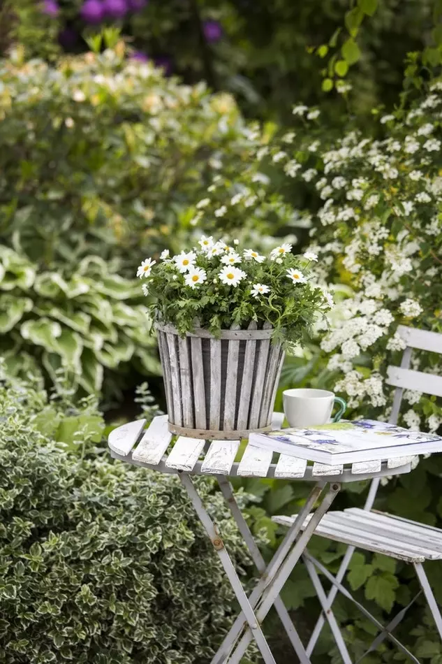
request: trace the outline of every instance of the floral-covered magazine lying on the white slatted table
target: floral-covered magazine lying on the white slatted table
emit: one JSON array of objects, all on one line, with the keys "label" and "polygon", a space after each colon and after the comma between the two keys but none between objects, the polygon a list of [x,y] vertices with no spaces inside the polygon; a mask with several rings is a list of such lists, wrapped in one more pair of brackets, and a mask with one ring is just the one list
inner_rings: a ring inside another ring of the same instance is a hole
[{"label": "floral-covered magazine lying on the white slatted table", "polygon": [[442,452],[442,437],[372,419],[251,433],[249,443],[329,465]]}]

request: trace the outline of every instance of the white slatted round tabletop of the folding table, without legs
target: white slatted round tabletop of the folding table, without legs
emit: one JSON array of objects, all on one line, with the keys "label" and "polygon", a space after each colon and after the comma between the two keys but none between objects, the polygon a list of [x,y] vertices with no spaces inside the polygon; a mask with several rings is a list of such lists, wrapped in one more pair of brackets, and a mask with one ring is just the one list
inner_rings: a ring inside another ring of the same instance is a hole
[{"label": "white slatted round tabletop of the folding table, without legs", "polygon": [[[273,426],[280,428],[283,413],[274,413]],[[168,429],[168,416],[154,417],[145,430],[146,421],[140,419],[114,429],[108,445],[112,456],[134,465],[160,472],[188,472],[196,475],[226,475],[230,477],[275,477],[279,479],[355,482],[372,477],[383,477],[409,472],[412,456],[385,461],[363,461],[349,465],[309,464],[305,459],[278,454],[272,450],[244,448],[240,461],[236,461],[240,440],[212,440],[172,436]]]}]

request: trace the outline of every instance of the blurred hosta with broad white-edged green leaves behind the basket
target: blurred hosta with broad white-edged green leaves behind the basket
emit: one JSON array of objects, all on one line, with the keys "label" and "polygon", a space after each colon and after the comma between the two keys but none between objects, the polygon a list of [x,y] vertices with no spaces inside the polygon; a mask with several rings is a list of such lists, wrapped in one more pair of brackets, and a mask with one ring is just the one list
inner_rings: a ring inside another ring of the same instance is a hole
[{"label": "blurred hosta with broad white-edged green leaves behind the basket", "polygon": [[0,352],[12,374],[41,368],[56,382],[63,369],[75,386],[98,392],[103,371],[159,374],[155,342],[138,284],[87,257],[69,277],[41,270],[0,247]]}]

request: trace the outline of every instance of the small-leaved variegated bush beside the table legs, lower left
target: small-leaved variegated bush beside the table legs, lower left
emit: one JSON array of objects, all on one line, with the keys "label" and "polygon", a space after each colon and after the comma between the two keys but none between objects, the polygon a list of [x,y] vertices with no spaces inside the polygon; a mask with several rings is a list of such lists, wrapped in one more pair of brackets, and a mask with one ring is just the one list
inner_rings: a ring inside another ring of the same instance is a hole
[{"label": "small-leaved variegated bush beside the table legs, lower left", "polygon": [[[69,454],[41,433],[47,406],[0,384],[0,662],[205,664],[233,593],[179,480]],[[221,494],[198,484],[246,567]]]}]

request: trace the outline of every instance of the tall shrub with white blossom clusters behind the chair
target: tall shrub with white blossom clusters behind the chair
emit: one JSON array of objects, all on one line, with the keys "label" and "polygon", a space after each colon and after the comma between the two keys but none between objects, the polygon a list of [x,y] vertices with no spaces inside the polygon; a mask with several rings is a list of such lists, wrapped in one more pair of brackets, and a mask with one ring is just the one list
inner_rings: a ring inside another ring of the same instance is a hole
[{"label": "tall shrub with white blossom clusters behind the chair", "polygon": [[[309,124],[306,107],[297,115]],[[411,110],[381,117],[380,140],[351,131],[323,145],[307,127],[293,158],[286,147],[281,158],[286,174],[318,196],[309,247],[319,257],[318,276],[352,289],[321,348],[336,391],[366,415],[388,415],[386,368],[404,349],[397,326],[442,331],[441,118],[442,82],[435,81]],[[442,359],[415,353],[412,368],[441,373]],[[404,424],[436,431],[441,405],[415,392],[404,396]]]}]

